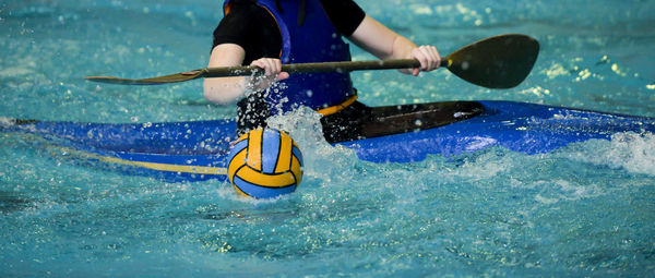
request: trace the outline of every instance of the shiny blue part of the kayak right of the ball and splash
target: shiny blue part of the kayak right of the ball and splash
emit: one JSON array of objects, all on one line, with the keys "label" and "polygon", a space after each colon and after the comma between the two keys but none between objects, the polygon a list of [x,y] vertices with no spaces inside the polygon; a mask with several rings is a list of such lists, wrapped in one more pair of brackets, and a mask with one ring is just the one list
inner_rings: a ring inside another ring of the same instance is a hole
[{"label": "shiny blue part of the kayak right of the ball and splash", "polygon": [[534,155],[621,132],[655,133],[655,118],[513,101],[480,104],[485,112],[466,121],[344,145],[364,160],[409,162],[428,154],[456,156],[495,145]]}]

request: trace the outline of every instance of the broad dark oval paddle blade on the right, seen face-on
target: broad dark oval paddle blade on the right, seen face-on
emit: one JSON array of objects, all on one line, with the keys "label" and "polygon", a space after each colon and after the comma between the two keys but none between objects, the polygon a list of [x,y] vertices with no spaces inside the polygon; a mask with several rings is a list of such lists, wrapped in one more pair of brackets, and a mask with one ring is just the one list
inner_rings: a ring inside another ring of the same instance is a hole
[{"label": "broad dark oval paddle blade on the right, seen face-on", "polygon": [[446,57],[455,75],[488,88],[513,88],[527,77],[539,55],[539,43],[509,34],[471,44]]}]

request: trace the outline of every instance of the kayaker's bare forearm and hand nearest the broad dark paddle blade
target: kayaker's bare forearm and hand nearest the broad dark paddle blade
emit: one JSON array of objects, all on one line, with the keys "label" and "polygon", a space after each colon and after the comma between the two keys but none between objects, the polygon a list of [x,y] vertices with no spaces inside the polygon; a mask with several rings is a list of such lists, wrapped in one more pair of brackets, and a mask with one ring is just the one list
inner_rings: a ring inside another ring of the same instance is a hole
[{"label": "kayaker's bare forearm and hand nearest the broad dark paddle blade", "polygon": [[348,40],[380,59],[416,59],[420,69],[401,72],[418,75],[419,71],[439,68],[441,56],[433,46],[420,46],[396,34],[370,16],[365,16]]}]

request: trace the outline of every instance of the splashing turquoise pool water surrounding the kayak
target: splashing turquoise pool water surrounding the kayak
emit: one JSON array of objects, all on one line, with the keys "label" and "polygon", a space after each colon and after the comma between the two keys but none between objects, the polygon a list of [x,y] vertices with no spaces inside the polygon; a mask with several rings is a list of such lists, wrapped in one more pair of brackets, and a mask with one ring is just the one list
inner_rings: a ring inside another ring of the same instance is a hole
[{"label": "splashing turquoise pool water surrounding the kayak", "polygon": [[[541,44],[519,87],[448,71],[354,74],[372,106],[502,99],[655,117],[655,1],[360,0],[442,55],[523,33]],[[206,64],[219,1],[3,0],[0,117],[222,119],[201,82],[98,85]],[[356,60],[371,59],[354,49]],[[293,121],[282,119],[281,121]],[[302,125],[311,126],[311,122]],[[306,176],[274,202],[216,181],[166,183],[0,134],[0,276],[626,276],[655,273],[655,136],[616,134],[527,156],[490,148],[376,165],[301,129]]]}]

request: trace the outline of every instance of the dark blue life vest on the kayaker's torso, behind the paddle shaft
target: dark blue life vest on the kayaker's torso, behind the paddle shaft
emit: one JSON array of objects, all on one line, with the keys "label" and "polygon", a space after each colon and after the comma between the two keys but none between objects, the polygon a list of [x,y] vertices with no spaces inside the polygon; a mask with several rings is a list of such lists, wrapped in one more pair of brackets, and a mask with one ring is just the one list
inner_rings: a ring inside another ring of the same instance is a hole
[{"label": "dark blue life vest on the kayaker's torso, behind the paddle shaft", "polygon": [[[224,11],[229,12],[229,0]],[[350,50],[318,0],[306,0],[306,16],[298,26],[299,1],[258,0],[277,22],[282,35],[282,63],[350,61]],[[314,110],[336,106],[354,96],[353,81],[346,73],[295,73],[266,92],[271,113],[289,111],[300,105]]]}]

